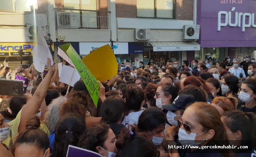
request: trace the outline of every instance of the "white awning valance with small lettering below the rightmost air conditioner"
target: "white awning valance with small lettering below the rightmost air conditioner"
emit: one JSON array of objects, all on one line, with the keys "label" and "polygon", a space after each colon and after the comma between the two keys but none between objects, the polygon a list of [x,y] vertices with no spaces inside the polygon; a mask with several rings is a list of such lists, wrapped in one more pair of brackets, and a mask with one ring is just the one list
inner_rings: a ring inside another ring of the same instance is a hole
[{"label": "white awning valance with small lettering below the rightmost air conditioner", "polygon": [[153,46],[153,51],[195,51],[200,50],[200,46]]}]

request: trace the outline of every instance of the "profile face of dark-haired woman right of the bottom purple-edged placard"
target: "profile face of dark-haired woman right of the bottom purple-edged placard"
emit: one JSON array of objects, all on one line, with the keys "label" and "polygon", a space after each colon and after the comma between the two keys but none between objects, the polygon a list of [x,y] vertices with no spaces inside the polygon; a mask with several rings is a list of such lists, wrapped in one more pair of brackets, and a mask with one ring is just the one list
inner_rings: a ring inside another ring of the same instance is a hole
[{"label": "profile face of dark-haired woman right of the bottom purple-edged placard", "polygon": [[[115,153],[115,142],[117,141],[117,139],[115,138],[115,134],[113,133],[112,129],[108,129],[108,137],[106,139],[106,141],[104,142],[104,148],[106,148],[106,151],[108,152],[113,152]],[[106,152],[103,150],[102,155],[104,155],[105,157],[108,157],[108,152]]]}]

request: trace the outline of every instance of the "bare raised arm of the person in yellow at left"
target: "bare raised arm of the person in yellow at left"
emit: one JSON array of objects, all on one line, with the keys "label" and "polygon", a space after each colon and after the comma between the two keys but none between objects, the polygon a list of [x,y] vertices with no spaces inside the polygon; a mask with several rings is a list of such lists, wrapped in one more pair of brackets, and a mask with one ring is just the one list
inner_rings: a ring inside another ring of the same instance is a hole
[{"label": "bare raised arm of the person in yellow at left", "polygon": [[26,129],[26,122],[32,116],[35,115],[45,98],[48,91],[49,85],[51,83],[51,78],[55,73],[54,66],[51,66],[51,60],[47,60],[48,74],[39,84],[37,90],[35,91],[33,97],[27,102],[27,104],[22,108],[22,113],[20,117],[20,125],[18,126],[18,132],[24,131]]}]

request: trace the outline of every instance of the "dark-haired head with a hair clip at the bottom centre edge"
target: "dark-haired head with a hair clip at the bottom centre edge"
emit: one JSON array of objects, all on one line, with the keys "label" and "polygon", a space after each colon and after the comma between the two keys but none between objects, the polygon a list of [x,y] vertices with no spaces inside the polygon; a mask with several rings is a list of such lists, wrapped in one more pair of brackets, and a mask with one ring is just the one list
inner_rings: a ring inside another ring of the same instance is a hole
[{"label": "dark-haired head with a hair clip at the bottom centre edge", "polygon": [[133,126],[131,131],[121,131],[115,145],[117,147],[115,157],[160,157],[155,144],[144,133],[135,133]]}]

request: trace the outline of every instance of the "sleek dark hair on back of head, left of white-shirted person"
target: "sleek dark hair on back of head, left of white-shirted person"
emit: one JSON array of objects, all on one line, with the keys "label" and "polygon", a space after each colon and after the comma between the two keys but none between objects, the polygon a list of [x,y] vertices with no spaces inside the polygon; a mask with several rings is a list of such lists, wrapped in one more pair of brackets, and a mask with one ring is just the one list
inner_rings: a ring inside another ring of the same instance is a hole
[{"label": "sleek dark hair on back of head, left of white-shirted person", "polygon": [[124,111],[125,103],[121,97],[107,97],[101,105],[101,120],[107,124],[116,123],[123,117]]}]

